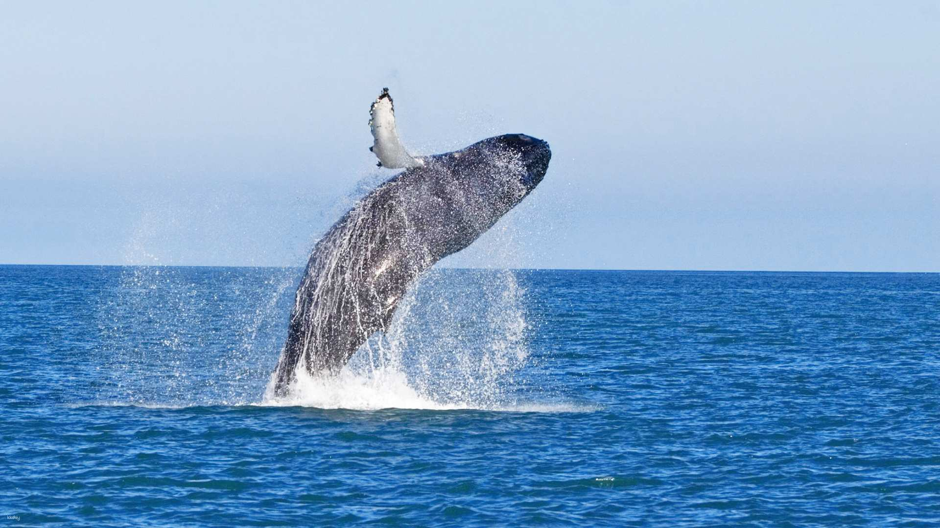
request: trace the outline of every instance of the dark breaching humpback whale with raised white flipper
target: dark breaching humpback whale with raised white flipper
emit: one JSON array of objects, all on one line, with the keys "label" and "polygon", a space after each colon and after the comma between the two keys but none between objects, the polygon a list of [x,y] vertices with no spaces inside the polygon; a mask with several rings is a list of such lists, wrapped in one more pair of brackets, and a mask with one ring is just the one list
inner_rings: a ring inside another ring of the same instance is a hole
[{"label": "dark breaching humpback whale with raised white flipper", "polygon": [[520,203],[552,157],[547,143],[521,133],[415,157],[399,141],[387,88],[369,115],[379,165],[406,170],[359,200],[313,248],[274,370],[274,396],[290,393],[299,370],[337,374],[388,327],[415,279]]}]

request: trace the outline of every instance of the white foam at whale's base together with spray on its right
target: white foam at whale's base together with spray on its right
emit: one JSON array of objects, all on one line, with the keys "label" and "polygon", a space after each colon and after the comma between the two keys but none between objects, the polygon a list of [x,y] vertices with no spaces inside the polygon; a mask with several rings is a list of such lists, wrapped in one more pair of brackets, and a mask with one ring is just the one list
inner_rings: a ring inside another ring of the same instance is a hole
[{"label": "white foam at whale's base together with spray on its right", "polygon": [[[435,270],[399,304],[386,334],[363,345],[337,377],[305,369],[271,405],[325,409],[518,407],[526,364],[525,289],[514,272]],[[526,395],[532,396],[532,395]]]}]

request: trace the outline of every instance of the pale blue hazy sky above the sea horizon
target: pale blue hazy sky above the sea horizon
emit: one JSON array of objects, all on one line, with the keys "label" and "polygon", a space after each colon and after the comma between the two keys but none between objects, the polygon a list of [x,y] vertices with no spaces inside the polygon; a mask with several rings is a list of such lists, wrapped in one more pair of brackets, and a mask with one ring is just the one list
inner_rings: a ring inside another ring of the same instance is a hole
[{"label": "pale blue hazy sky above the sea horizon", "polygon": [[552,146],[444,266],[940,272],[940,2],[338,4],[3,3],[0,263],[303,266],[388,86]]}]

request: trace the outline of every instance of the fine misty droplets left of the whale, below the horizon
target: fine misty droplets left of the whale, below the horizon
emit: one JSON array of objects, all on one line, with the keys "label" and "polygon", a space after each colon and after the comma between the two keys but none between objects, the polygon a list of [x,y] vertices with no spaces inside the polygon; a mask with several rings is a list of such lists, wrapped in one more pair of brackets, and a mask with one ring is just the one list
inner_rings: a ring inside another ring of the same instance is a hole
[{"label": "fine misty droplets left of the whale, below the horizon", "polygon": [[99,397],[148,405],[257,401],[297,271],[124,267],[97,313]]}]

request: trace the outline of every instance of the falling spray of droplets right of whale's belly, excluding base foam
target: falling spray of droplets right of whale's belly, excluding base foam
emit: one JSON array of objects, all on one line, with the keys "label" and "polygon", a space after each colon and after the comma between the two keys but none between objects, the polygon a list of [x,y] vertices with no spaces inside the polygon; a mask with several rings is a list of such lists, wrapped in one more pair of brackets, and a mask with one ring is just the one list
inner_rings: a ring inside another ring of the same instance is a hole
[{"label": "falling spray of droplets right of whale's belly, excluding base foam", "polygon": [[396,322],[386,353],[419,394],[475,408],[512,402],[530,355],[525,290],[513,272],[432,272]]}]

